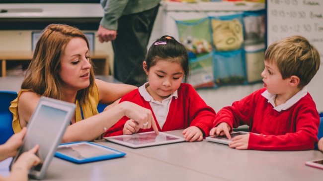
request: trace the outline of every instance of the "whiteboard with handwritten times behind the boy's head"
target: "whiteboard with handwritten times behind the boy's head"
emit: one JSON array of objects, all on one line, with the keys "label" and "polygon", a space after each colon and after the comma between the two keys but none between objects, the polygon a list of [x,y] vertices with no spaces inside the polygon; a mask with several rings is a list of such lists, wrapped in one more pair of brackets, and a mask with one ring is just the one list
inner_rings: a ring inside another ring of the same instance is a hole
[{"label": "whiteboard with handwritten times behind the boy's head", "polygon": [[266,10],[267,45],[301,35],[320,52],[320,69],[307,88],[323,112],[323,0],[266,0]]}]

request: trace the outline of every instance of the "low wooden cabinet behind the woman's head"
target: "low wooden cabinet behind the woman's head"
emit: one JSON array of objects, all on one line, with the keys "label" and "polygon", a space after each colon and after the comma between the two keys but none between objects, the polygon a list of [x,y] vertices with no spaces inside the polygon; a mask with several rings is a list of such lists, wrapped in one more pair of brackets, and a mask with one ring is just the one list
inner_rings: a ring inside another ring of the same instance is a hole
[{"label": "low wooden cabinet behind the woman's head", "polygon": [[[7,76],[7,70],[9,64],[27,64],[32,59],[32,51],[0,51],[0,61],[1,61],[1,76]],[[94,64],[95,75],[110,75],[109,71],[109,55],[103,51],[94,51],[90,53],[90,57]]]}]

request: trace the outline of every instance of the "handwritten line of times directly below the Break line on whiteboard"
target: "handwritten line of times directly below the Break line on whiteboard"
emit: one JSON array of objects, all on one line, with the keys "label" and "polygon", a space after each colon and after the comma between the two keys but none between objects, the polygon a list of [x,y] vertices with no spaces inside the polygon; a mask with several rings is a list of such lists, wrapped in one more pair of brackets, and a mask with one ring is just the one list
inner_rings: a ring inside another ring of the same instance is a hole
[{"label": "handwritten line of times directly below the Break line on whiteboard", "polygon": [[270,30],[275,33],[323,33],[323,25],[319,23],[304,23],[304,24],[274,24]]}]

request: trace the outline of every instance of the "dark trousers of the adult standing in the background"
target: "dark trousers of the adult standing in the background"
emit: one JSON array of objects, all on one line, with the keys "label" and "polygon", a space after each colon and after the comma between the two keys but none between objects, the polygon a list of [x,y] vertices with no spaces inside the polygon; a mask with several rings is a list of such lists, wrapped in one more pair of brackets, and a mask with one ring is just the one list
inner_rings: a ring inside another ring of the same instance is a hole
[{"label": "dark trousers of the adult standing in the background", "polygon": [[159,5],[119,18],[117,38],[112,41],[114,77],[117,80],[137,87],[147,82],[143,61],[158,9]]}]

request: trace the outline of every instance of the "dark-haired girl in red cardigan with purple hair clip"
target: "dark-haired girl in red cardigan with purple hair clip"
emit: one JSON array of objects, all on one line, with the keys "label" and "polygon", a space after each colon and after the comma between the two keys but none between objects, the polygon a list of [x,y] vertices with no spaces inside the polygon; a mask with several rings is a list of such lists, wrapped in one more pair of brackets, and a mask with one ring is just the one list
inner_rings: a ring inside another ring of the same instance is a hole
[{"label": "dark-haired girl in red cardigan with purple hair clip", "polygon": [[[185,46],[172,37],[163,36],[149,48],[143,67],[148,83],[124,95],[120,102],[132,101],[152,110],[161,132],[184,129],[182,134],[190,142],[208,136],[215,111],[191,85],[182,83],[189,76]],[[125,116],[107,130],[105,136],[149,131],[152,129],[140,129],[136,122]]]}]

